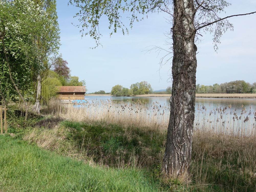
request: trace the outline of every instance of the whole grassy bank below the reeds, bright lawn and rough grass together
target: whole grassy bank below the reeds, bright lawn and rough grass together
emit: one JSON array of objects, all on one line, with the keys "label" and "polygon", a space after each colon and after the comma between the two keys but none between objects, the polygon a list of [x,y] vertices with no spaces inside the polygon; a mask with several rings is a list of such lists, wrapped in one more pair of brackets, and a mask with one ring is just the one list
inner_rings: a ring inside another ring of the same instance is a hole
[{"label": "whole grassy bank below the reeds, bright lawn and rough grass together", "polygon": [[[54,191],[59,187],[56,183],[63,179],[63,191],[70,186],[71,191],[90,191],[92,186],[97,186],[98,191],[256,190],[255,135],[195,130],[189,178],[179,181],[161,177],[166,129],[106,121],[77,122],[53,116],[22,122],[20,118],[13,120],[9,130],[32,145],[0,138],[0,156],[4,156],[0,160],[0,173],[4,174],[0,185],[4,189]],[[35,162],[39,162],[39,167]],[[31,178],[31,182],[26,178]],[[54,183],[49,189],[44,186],[47,179]],[[84,183],[80,185],[81,181]]]}]

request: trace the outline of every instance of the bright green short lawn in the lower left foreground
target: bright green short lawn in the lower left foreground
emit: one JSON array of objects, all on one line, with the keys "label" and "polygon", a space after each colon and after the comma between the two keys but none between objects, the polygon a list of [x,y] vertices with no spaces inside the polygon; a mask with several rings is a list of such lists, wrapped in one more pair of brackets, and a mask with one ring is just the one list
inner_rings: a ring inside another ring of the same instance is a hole
[{"label": "bright green short lawn in the lower left foreground", "polygon": [[91,167],[0,135],[0,191],[157,191],[143,170]]}]

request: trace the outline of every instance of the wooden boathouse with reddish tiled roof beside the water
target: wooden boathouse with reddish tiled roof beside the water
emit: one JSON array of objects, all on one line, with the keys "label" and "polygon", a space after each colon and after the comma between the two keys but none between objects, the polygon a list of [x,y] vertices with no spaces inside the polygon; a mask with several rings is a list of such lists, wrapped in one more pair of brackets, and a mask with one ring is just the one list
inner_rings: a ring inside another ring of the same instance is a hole
[{"label": "wooden boathouse with reddish tiled roof beside the water", "polygon": [[56,88],[61,100],[84,100],[85,86],[60,86]]}]

